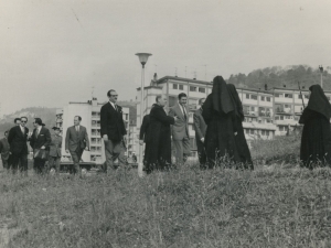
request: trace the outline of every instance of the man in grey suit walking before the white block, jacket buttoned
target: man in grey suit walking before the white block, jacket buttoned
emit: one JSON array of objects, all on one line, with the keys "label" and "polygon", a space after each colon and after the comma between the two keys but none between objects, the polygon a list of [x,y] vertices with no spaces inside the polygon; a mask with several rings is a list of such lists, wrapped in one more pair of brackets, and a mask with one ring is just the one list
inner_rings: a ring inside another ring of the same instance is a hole
[{"label": "man in grey suit walking before the white block, jacket buttoned", "polygon": [[74,173],[81,174],[79,161],[84,149],[89,150],[89,140],[86,128],[81,126],[82,117],[75,116],[74,126],[67,128],[65,136],[65,152],[71,153],[74,161]]}]

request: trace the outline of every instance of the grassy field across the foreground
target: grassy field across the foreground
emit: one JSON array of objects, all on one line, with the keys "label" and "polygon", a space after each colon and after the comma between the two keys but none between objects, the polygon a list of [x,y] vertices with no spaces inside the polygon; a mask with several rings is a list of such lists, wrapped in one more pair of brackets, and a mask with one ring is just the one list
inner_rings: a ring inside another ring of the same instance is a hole
[{"label": "grassy field across the foreground", "polygon": [[1,173],[0,223],[15,248],[331,247],[330,179],[330,169],[285,162],[253,172],[191,164],[145,179]]}]

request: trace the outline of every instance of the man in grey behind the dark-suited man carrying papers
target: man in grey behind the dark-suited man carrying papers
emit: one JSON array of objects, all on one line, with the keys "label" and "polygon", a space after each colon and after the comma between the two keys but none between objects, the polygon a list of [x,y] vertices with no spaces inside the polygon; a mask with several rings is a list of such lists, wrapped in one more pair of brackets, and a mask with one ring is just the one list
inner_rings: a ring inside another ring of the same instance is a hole
[{"label": "man in grey behind the dark-suited man carrying papers", "polygon": [[53,127],[54,134],[51,136],[52,141],[50,144],[50,157],[49,166],[50,169],[55,166],[56,173],[60,172],[61,162],[61,148],[62,148],[62,136],[60,136],[60,128]]}]

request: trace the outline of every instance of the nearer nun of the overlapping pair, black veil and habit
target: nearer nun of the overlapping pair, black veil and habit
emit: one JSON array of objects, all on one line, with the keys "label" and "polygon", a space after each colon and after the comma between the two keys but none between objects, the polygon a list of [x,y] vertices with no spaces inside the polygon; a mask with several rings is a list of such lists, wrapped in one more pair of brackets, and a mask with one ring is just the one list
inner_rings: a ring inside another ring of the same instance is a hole
[{"label": "nearer nun of the overlapping pair, black veil and habit", "polygon": [[235,107],[222,76],[214,78],[212,94],[202,109],[207,125],[204,144],[209,168],[215,166],[217,160],[225,155],[239,161],[234,136]]}]

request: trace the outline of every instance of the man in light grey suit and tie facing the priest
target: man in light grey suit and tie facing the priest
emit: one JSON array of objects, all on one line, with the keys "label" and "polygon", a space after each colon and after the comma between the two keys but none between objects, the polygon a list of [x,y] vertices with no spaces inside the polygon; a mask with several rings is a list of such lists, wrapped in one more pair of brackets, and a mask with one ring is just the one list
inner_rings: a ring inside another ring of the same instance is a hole
[{"label": "man in light grey suit and tie facing the priest", "polygon": [[189,134],[189,111],[186,108],[188,96],[181,93],[178,96],[178,104],[170,108],[169,116],[178,117],[178,120],[171,127],[173,153],[175,163],[185,163],[191,153]]}]

